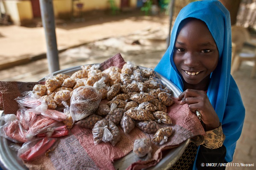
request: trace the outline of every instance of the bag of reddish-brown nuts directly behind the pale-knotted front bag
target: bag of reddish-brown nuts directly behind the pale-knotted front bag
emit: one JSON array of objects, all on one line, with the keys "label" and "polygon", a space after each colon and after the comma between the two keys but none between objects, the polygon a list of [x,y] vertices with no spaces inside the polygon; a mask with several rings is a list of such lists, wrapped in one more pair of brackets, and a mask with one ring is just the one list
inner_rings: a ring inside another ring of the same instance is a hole
[{"label": "bag of reddish-brown nuts directly behind the pale-knotted front bag", "polygon": [[124,109],[122,108],[117,108],[117,105],[115,103],[112,103],[110,107],[110,111],[108,115],[105,117],[105,119],[109,122],[112,121],[115,125],[118,125],[119,122],[122,119]]}]

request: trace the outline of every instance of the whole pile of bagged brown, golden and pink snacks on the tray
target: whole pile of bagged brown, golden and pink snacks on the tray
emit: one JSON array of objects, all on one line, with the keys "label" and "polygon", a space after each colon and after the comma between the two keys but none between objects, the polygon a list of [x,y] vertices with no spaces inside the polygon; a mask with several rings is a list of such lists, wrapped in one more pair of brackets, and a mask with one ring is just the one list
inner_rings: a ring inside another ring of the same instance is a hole
[{"label": "whole pile of bagged brown, golden and pink snacks on the tray", "polygon": [[145,139],[147,145],[162,145],[172,135],[171,127],[159,128],[159,124],[172,124],[167,113],[167,106],[174,103],[171,89],[155,71],[132,62],[104,71],[99,65],[84,65],[71,76],[48,76],[45,85],[35,85],[23,95],[15,99],[20,109],[14,119],[3,116],[6,124],[0,127],[0,135],[24,143],[18,150],[24,161],[44,154],[74,125],[90,128],[94,144],[110,142],[113,146],[121,140],[118,126],[126,134],[135,126],[155,133],[151,141]]}]

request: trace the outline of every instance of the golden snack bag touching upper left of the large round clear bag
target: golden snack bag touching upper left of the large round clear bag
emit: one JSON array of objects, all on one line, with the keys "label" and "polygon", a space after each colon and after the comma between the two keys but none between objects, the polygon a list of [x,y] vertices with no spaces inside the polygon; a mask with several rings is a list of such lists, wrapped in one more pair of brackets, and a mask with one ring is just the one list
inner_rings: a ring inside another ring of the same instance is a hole
[{"label": "golden snack bag touching upper left of the large round clear bag", "polygon": [[58,107],[63,106],[62,102],[66,102],[67,105],[70,105],[71,91],[69,90],[60,90],[54,96],[54,102]]}]

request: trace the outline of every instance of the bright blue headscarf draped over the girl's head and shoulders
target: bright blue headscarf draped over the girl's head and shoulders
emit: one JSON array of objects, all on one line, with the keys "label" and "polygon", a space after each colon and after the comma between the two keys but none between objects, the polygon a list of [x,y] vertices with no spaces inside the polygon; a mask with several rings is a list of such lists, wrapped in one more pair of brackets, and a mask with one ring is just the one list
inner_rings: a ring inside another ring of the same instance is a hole
[{"label": "bright blue headscarf draped over the girl's head and shoulders", "polygon": [[241,135],[245,109],[238,87],[230,75],[231,68],[231,24],[229,11],[218,0],[202,0],[188,4],[179,12],[175,20],[170,46],[156,66],[155,71],[171,80],[183,91],[181,74],[174,60],[174,43],[179,25],[186,18],[197,18],[206,23],[219,51],[219,62],[212,72],[207,96],[220,119],[226,136],[227,149],[225,160],[230,162],[235,151],[236,141]]}]

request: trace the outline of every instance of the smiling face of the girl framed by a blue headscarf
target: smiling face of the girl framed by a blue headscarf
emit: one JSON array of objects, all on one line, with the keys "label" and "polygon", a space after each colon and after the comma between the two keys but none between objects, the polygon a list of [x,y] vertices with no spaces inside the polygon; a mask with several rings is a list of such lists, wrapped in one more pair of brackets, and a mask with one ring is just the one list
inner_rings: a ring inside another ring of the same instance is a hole
[{"label": "smiling face of the girl framed by a blue headscarf", "polygon": [[174,63],[183,77],[184,90],[207,90],[218,59],[217,45],[206,24],[189,20],[179,31],[174,45]]}]

